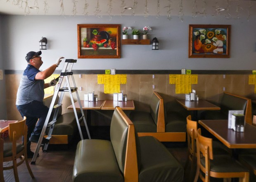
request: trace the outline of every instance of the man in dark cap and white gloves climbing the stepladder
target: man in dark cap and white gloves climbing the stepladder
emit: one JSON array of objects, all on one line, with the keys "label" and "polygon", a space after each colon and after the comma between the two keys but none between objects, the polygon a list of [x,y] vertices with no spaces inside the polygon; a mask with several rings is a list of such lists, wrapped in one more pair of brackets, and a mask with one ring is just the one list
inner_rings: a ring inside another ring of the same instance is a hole
[{"label": "man in dark cap and white gloves climbing the stepladder", "polygon": [[[43,105],[44,89],[57,84],[55,79],[51,80],[50,83],[44,83],[44,79],[53,74],[55,69],[59,66],[59,63],[62,61],[61,59],[64,58],[57,58],[56,63],[46,70],[40,71],[39,68],[43,64],[42,58],[40,57],[41,54],[41,51],[30,51],[26,55],[25,59],[28,62],[28,65],[21,77],[19,89],[17,91],[17,109],[22,117],[26,116],[27,118],[26,125],[28,126],[28,133],[27,141],[24,142],[27,142],[28,158],[32,158],[34,155],[30,149],[30,145],[31,142],[38,142],[49,110],[47,106]],[[43,138],[42,143],[48,142],[49,140]]]}]

